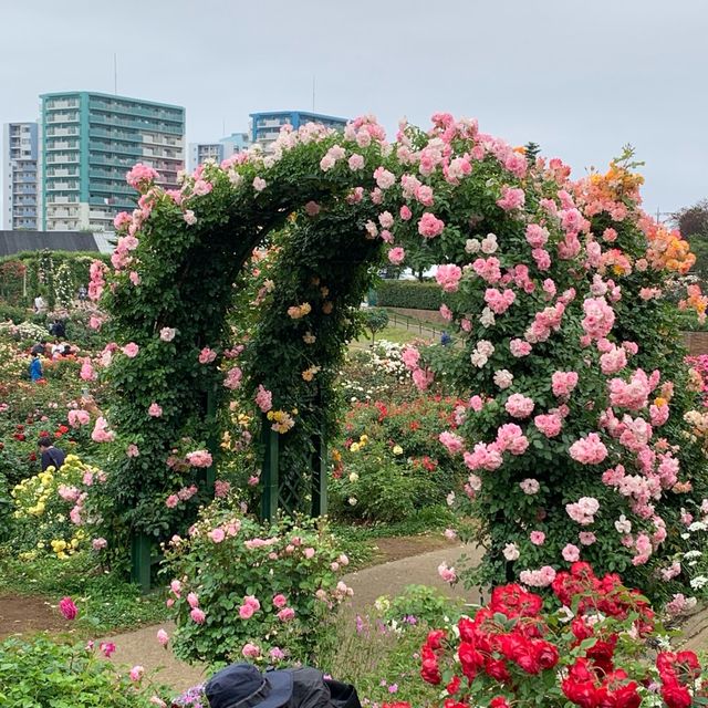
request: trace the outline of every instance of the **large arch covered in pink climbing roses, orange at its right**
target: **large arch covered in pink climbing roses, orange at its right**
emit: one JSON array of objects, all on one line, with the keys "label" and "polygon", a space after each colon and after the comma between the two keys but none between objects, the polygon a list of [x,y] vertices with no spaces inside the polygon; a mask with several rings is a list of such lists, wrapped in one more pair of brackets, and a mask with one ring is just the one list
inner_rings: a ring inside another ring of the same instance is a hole
[{"label": "large arch covered in pink climbing roses, orange at its right", "polygon": [[[117,218],[113,269],[95,264],[91,285],[115,340],[94,430],[116,442],[100,492],[114,537],[142,539],[139,555],[191,522],[229,389],[263,415],[266,516],[313,480],[322,510],[334,371],[386,254],[439,266],[461,342],[405,358],[418,388],[445,382],[469,400],[440,429],[469,469],[450,496],[473,520],[460,534],[487,548],[469,581],[543,586],[581,559],[669,591],[688,509],[708,512],[669,292],[691,256],[641,211],[629,156],[574,183],[560,160],[447,114],[427,133],[402,125],[394,144],[360,118],[344,135],[284,132],[274,148],[202,166],[174,191],[152,168],[128,174],[138,208]],[[706,306],[695,289],[681,302]]]}]

